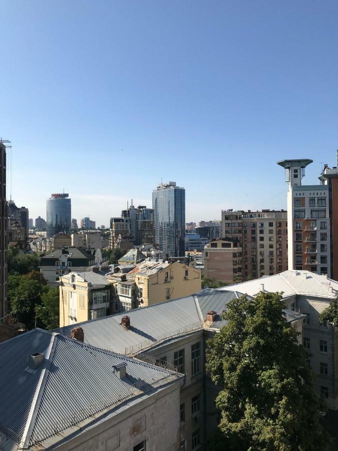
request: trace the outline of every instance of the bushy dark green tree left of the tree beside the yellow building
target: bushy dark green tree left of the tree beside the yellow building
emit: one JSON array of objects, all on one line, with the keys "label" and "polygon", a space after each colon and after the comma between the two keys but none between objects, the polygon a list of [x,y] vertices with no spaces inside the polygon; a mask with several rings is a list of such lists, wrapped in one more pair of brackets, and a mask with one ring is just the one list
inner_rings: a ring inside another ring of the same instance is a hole
[{"label": "bushy dark green tree left of the tree beside the yellow building", "polygon": [[41,282],[27,276],[9,276],[8,301],[10,316],[27,329],[32,329],[35,322],[35,306],[41,304],[44,286]]}]

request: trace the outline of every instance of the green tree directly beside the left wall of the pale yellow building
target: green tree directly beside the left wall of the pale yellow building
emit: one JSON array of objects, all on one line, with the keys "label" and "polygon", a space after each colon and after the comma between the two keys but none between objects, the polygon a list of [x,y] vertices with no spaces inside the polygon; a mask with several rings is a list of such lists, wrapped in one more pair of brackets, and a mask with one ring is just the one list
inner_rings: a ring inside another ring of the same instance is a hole
[{"label": "green tree directly beside the left wall of the pale yellow building", "polygon": [[35,307],[37,322],[46,329],[59,327],[59,288],[49,288],[42,293],[41,304]]}]

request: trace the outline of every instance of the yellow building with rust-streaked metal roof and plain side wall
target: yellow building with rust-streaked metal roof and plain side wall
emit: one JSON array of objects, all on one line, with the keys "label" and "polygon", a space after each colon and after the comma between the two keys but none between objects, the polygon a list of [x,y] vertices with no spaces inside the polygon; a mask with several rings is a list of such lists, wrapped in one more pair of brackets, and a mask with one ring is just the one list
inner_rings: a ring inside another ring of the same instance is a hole
[{"label": "yellow building with rust-streaked metal roof and plain side wall", "polygon": [[128,273],[109,273],[115,312],[189,296],[201,289],[201,272],[185,263],[146,259]]}]

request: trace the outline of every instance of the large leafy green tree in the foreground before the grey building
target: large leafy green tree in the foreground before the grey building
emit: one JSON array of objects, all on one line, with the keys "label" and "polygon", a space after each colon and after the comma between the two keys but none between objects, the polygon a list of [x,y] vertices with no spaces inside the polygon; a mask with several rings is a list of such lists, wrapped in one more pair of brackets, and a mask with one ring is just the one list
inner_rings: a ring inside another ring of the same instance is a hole
[{"label": "large leafy green tree in the foreground before the grey building", "polygon": [[308,355],[287,323],[281,294],[229,302],[208,342],[206,369],[223,388],[212,449],[316,451],[328,448]]}]

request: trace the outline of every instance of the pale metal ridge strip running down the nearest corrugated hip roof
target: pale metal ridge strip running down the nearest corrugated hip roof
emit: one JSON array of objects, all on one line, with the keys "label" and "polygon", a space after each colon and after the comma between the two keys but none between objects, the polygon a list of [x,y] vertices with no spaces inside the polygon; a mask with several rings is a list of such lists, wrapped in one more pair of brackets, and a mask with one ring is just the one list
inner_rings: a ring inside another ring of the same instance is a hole
[{"label": "pale metal ridge strip running down the nearest corrugated hip roof", "polygon": [[32,432],[35,426],[35,422],[38,416],[39,407],[42,399],[42,395],[44,393],[46,381],[49,375],[49,369],[50,369],[50,363],[53,360],[55,347],[57,344],[57,336],[59,334],[52,334],[51,335],[51,342],[49,344],[49,347],[47,348],[47,352],[45,353],[45,360],[49,361],[49,365],[46,365],[45,368],[41,371],[40,379],[37,385],[37,388],[35,390],[35,394],[32,400],[31,409],[27,417],[25,429],[22,435],[22,442],[24,443],[24,446],[29,446]]}]

